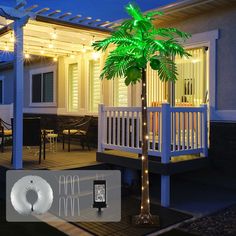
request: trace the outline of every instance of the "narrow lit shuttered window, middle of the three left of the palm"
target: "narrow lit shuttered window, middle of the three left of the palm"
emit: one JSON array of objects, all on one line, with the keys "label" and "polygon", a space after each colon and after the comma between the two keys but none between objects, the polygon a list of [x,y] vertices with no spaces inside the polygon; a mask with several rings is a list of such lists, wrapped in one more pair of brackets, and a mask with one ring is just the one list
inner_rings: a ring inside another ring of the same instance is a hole
[{"label": "narrow lit shuttered window, middle of the three left of the palm", "polygon": [[98,104],[101,101],[100,61],[89,61],[89,111],[98,112]]}]

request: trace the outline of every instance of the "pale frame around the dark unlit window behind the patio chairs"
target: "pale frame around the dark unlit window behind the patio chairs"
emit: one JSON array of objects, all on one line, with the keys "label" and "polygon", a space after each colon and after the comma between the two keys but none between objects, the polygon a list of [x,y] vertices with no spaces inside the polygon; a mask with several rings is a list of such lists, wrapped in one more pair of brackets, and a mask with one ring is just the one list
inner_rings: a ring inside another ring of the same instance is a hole
[{"label": "pale frame around the dark unlit window behind the patio chairs", "polygon": [[[33,102],[33,75],[36,74],[46,74],[46,73],[53,73],[53,101],[52,102]],[[38,69],[30,70],[30,107],[56,107],[56,67],[55,66],[48,66],[48,67],[41,67]]]}]

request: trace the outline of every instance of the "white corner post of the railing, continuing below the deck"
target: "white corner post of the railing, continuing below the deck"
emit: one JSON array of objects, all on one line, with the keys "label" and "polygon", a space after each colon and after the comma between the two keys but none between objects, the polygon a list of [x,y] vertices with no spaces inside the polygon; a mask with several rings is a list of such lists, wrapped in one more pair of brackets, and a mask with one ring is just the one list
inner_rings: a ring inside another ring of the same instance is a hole
[{"label": "white corner post of the railing, continuing below the deck", "polygon": [[[170,162],[171,151],[171,110],[170,104],[162,104],[161,110],[161,162],[167,164]],[[170,205],[170,176],[161,176],[161,206]]]}]

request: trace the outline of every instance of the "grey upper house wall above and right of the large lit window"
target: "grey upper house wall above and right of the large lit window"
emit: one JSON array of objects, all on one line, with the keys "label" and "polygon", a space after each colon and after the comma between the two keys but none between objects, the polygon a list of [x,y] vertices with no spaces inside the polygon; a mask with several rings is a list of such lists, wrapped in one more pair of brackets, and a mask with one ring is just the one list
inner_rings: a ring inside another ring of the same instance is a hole
[{"label": "grey upper house wall above and right of the large lit window", "polygon": [[[219,29],[216,52],[216,109],[236,110],[236,7],[213,10],[158,27],[176,27],[191,34]],[[211,95],[210,95],[211,96]],[[235,117],[236,120],[236,117]]]}]

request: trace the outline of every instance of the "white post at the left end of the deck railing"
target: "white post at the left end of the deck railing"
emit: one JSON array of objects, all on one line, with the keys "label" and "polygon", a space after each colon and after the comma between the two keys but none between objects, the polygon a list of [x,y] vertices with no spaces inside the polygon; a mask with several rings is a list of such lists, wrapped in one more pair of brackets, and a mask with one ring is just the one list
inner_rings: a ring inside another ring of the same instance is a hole
[{"label": "white post at the left end of the deck railing", "polygon": [[106,128],[104,127],[104,105],[99,104],[98,106],[98,152],[103,152],[103,140],[104,140],[104,132],[106,131]]}]

